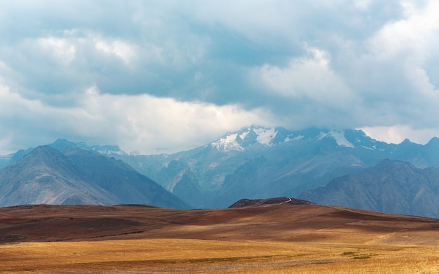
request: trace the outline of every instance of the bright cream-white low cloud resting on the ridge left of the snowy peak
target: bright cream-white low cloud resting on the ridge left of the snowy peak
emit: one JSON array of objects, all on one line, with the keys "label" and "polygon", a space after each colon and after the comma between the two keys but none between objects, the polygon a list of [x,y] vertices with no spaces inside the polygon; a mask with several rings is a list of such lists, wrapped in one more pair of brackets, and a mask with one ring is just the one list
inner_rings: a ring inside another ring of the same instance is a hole
[{"label": "bright cream-white low cloud resting on the ridge left of the snowy peak", "polygon": [[[236,105],[222,107],[203,102],[179,102],[151,95],[100,95],[88,92],[83,102],[90,113],[99,109],[104,128],[96,139],[119,144],[127,151],[165,153],[200,146],[228,130],[251,123],[269,124],[262,109],[244,111]],[[90,138],[89,138],[90,139]],[[159,150],[158,150],[159,149]]]}]

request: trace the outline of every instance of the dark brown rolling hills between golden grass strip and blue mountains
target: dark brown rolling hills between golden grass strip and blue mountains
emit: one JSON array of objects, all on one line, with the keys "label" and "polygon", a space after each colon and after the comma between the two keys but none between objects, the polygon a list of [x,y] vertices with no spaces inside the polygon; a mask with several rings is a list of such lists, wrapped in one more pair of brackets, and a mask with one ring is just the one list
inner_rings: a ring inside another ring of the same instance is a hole
[{"label": "dark brown rolling hills between golden grass strip and blue mountains", "polygon": [[[182,238],[437,245],[438,219],[278,203],[222,210],[140,205],[0,208],[0,243]],[[385,237],[383,237],[385,235]]]}]

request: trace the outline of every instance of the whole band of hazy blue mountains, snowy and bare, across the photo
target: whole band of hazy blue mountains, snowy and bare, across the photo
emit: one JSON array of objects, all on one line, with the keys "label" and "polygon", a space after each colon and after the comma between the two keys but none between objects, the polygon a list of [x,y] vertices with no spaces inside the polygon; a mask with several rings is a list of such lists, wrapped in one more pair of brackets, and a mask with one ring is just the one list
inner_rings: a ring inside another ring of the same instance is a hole
[{"label": "whole band of hazy blue mountains, snowy and bare, across the photo", "polygon": [[361,130],[250,126],[170,155],[53,144],[0,157],[0,206],[141,204],[224,208],[289,196],[439,217],[439,139],[379,142]]}]

